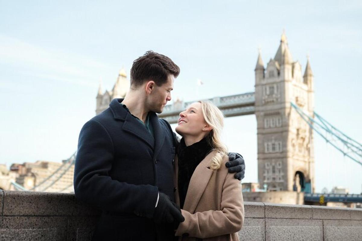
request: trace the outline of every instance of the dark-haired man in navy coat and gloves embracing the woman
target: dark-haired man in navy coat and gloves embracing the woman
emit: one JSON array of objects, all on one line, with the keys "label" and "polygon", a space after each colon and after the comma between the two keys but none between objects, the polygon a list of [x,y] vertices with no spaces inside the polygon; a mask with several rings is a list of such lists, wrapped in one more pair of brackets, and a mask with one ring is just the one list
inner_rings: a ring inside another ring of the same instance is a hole
[{"label": "dark-haired man in navy coat and gloves embracing the woman", "polygon": [[[112,100],[83,126],[74,191],[102,210],[93,240],[172,240],[184,220],[173,202],[177,137],[156,115],[171,100],[179,73],[167,56],[146,52],[132,65],[125,99]],[[244,176],[242,157],[228,165],[236,178]]]}]

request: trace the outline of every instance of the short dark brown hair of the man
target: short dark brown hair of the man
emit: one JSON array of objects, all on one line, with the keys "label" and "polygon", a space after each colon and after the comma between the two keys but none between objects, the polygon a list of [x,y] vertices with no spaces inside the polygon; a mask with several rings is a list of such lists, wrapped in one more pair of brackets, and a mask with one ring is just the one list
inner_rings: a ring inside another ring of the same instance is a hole
[{"label": "short dark brown hair of the man", "polygon": [[131,87],[140,86],[150,80],[161,86],[167,82],[170,74],[176,78],[180,74],[180,68],[169,57],[150,50],[133,61]]}]

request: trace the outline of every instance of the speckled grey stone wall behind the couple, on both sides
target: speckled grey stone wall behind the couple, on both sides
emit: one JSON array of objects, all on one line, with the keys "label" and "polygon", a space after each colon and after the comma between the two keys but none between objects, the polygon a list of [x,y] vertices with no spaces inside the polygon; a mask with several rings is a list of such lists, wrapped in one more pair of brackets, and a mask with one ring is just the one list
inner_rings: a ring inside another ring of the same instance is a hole
[{"label": "speckled grey stone wall behind the couple, on both sides", "polygon": [[[98,210],[74,194],[0,191],[0,240],[88,241]],[[245,202],[240,240],[362,240],[362,209]]]}]

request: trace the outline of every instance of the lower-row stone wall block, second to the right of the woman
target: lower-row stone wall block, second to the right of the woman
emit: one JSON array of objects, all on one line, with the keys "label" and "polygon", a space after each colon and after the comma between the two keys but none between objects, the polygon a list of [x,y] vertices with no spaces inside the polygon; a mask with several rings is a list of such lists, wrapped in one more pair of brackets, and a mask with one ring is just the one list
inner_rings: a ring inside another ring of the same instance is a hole
[{"label": "lower-row stone wall block, second to the right of the woman", "polygon": [[265,219],[265,240],[323,240],[323,223],[312,219]]}]

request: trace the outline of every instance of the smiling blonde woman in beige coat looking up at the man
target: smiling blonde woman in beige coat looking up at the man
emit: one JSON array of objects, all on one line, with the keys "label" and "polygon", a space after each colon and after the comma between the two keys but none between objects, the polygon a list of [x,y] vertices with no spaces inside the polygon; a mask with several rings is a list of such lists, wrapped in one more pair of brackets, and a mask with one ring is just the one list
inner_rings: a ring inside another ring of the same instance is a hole
[{"label": "smiling blonde woman in beige coat looking up at the man", "polygon": [[195,102],[180,113],[174,184],[185,221],[176,230],[179,240],[239,240],[243,196],[240,181],[225,167],[222,128],[223,114],[209,102]]}]

